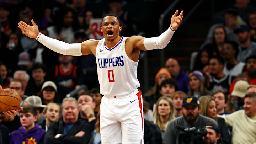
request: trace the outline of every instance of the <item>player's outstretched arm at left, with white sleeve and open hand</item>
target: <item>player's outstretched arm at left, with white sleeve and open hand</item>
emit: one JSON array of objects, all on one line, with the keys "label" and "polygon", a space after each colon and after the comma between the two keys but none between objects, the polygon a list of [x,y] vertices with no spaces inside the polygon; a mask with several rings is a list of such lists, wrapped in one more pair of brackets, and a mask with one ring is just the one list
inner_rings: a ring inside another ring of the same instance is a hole
[{"label": "player's outstretched arm at left, with white sleeve and open hand", "polygon": [[21,29],[21,32],[30,38],[35,38],[38,42],[42,43],[44,46],[48,47],[49,49],[53,50],[54,52],[63,54],[63,55],[73,55],[73,56],[80,56],[80,55],[87,55],[91,53],[90,48],[81,50],[81,43],[65,43],[59,41],[57,39],[49,38],[44,36],[42,33],[39,32],[38,26],[36,23],[31,20],[32,25],[30,26],[27,23],[21,21],[18,23],[18,27]]}]

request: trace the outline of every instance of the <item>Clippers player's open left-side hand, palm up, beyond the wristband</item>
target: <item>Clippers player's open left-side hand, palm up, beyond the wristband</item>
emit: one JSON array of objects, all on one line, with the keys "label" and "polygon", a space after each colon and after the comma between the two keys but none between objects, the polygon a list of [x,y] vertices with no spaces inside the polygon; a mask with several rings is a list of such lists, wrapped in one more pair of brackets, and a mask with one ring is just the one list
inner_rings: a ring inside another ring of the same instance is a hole
[{"label": "Clippers player's open left-side hand, palm up, beyond the wristband", "polygon": [[18,27],[21,29],[21,32],[26,36],[30,38],[36,38],[39,34],[38,26],[33,20],[31,20],[31,22],[33,26],[30,26],[27,23],[21,21],[18,23]]}]

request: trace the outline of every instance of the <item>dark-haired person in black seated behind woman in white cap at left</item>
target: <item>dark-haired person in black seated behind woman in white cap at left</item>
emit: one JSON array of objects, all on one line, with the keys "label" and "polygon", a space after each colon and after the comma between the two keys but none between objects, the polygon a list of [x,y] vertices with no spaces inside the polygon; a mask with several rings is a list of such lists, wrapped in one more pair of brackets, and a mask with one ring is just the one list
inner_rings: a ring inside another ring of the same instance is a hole
[{"label": "dark-haired person in black seated behind woman in white cap at left", "polygon": [[28,81],[25,94],[28,96],[39,96],[41,93],[43,83],[45,82],[44,77],[46,76],[46,66],[42,63],[34,63],[32,65],[31,71],[33,79],[30,79],[30,81]]}]

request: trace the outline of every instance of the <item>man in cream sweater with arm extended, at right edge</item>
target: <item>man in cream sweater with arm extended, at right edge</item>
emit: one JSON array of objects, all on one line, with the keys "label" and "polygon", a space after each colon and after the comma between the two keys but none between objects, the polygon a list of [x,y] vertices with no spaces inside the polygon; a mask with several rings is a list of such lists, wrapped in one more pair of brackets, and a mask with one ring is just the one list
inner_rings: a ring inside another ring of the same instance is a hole
[{"label": "man in cream sweater with arm extended, at right edge", "polygon": [[245,95],[244,110],[239,110],[231,114],[217,115],[225,119],[227,125],[232,127],[233,144],[256,142],[256,93]]}]

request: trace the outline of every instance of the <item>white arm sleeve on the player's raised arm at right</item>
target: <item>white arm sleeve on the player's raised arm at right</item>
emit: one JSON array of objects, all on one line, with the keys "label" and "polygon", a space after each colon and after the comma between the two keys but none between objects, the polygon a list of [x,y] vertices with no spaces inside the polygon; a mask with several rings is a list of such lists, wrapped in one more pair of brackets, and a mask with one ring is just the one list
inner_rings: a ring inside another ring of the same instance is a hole
[{"label": "white arm sleeve on the player's raised arm at right", "polygon": [[170,27],[158,37],[145,38],[143,44],[146,50],[165,48],[174,34]]}]

